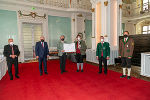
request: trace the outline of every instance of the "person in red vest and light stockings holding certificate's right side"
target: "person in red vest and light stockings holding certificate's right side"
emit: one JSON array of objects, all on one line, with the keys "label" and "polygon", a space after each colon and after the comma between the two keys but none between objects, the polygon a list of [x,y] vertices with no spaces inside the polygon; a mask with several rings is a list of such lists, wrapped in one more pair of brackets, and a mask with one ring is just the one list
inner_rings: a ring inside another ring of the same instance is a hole
[{"label": "person in red vest and light stockings holding certificate's right side", "polygon": [[85,41],[82,40],[80,35],[77,35],[76,37],[75,47],[76,47],[77,72],[79,72],[80,66],[81,72],[83,72],[83,56],[85,55],[87,46],[85,44]]}]

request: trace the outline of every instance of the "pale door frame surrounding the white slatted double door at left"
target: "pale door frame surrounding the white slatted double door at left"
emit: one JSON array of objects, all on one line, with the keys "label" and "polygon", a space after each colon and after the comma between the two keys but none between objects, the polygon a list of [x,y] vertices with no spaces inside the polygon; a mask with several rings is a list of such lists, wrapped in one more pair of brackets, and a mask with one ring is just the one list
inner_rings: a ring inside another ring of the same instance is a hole
[{"label": "pale door frame surrounding the white slatted double door at left", "polygon": [[[19,14],[17,16],[18,19],[18,47],[20,50],[20,56],[19,56],[19,62],[24,62],[24,40],[23,40],[23,32],[22,32],[22,26],[23,23],[34,23],[34,24],[42,24],[42,32],[43,36],[45,37],[45,41],[49,45],[49,36],[48,36],[48,16],[46,16],[46,19],[44,18],[32,18],[32,17],[19,17]],[[39,39],[40,40],[40,39]]]}]

